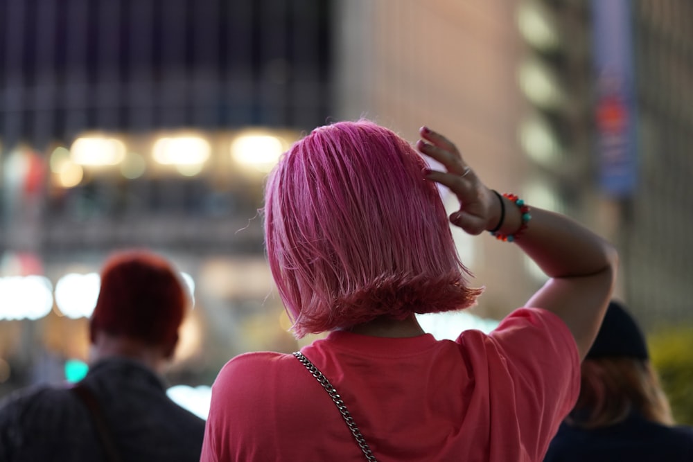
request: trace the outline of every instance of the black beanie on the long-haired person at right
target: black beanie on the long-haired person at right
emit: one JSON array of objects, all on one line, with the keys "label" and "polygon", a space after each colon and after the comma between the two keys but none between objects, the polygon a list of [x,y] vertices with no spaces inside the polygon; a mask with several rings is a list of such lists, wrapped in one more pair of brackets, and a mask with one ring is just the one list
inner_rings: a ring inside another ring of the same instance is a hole
[{"label": "black beanie on the long-haired person at right", "polygon": [[642,330],[635,323],[635,319],[616,301],[609,303],[597,339],[587,353],[588,358],[605,356],[649,358]]}]

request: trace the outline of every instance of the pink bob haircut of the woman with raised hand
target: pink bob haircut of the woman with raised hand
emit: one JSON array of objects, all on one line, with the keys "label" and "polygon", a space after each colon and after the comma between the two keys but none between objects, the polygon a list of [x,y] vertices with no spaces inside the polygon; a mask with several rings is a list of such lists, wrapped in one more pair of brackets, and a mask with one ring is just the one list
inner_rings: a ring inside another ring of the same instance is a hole
[{"label": "pink bob haircut of the woman with raised hand", "polygon": [[298,338],[378,317],[461,310],[467,287],[426,162],[370,121],[317,127],[265,187],[265,246]]}]

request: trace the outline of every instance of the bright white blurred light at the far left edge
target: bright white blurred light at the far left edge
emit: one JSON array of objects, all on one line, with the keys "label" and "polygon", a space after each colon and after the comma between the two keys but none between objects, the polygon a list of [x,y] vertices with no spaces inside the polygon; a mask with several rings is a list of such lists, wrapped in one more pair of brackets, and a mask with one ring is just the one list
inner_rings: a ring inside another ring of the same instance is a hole
[{"label": "bright white blurred light at the far left edge", "polygon": [[44,276],[0,278],[0,319],[40,319],[53,309],[53,286]]}]

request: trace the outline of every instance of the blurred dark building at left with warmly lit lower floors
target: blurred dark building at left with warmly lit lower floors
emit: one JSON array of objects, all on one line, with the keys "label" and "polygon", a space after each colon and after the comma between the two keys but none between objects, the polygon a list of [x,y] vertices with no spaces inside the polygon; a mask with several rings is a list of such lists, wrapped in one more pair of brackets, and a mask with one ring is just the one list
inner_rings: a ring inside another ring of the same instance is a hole
[{"label": "blurred dark building at left with warmly lit lower floors", "polygon": [[87,359],[94,276],[122,248],[194,281],[174,376],[295,348],[258,208],[332,112],[330,24],[319,0],[0,1],[0,387]]}]

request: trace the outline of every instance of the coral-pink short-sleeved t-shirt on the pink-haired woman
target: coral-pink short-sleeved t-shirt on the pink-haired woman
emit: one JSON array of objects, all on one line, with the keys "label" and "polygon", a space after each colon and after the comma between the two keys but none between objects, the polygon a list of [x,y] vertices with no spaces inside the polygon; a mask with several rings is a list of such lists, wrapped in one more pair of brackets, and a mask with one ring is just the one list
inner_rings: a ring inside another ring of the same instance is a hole
[{"label": "coral-pink short-sleeved t-shirt on the pink-haired woman", "polygon": [[[556,315],[511,313],[457,341],[332,332],[301,349],[339,391],[380,462],[541,461],[579,391],[577,346]],[[292,355],[231,359],[212,388],[211,461],[362,461],[331,398]]]}]

